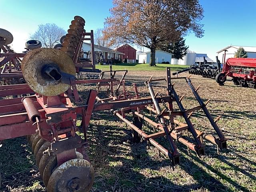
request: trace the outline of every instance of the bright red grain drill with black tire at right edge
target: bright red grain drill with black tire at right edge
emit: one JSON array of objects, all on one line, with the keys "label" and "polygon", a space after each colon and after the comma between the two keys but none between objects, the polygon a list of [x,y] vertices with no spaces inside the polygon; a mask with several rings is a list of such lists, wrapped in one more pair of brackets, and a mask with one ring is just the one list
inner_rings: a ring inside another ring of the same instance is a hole
[{"label": "bright red grain drill with black tire at right edge", "polygon": [[256,89],[256,59],[229,58],[222,72],[216,76],[216,82],[223,85],[227,76],[232,78],[235,85]]}]

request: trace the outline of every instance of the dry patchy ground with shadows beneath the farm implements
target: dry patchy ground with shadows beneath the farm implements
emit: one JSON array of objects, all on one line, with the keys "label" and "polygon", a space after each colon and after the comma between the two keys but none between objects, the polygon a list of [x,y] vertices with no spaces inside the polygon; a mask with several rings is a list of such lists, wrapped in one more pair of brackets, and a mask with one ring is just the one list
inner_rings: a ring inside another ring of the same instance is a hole
[{"label": "dry patchy ground with shadows beneath the farm implements", "polygon": [[[163,78],[165,71],[129,71],[127,90],[132,92],[132,83],[137,83],[141,96],[149,96],[144,81],[152,75]],[[228,138],[228,149],[218,155],[216,146],[205,141],[206,155],[198,158],[178,143],[181,163],[172,170],[170,160],[163,155],[159,157],[156,148],[148,148],[145,141],[130,142],[130,129],[110,112],[94,113],[88,131],[88,154],[96,172],[91,192],[256,191],[256,90],[234,86],[230,80],[219,86],[213,79],[196,75],[191,79],[195,87],[201,85],[198,93],[202,99],[210,99],[207,107],[212,116],[222,116],[218,126]],[[173,82],[178,95],[185,95],[182,100],[185,108],[198,105],[185,80]],[[164,94],[165,84],[154,83],[155,92]],[[83,98],[89,88],[95,87],[78,86]],[[192,123],[216,135],[202,111],[193,114]],[[152,131],[146,126],[143,129]],[[166,145],[165,140],[159,141]],[[45,190],[25,138],[6,140],[0,154],[0,191]]]}]

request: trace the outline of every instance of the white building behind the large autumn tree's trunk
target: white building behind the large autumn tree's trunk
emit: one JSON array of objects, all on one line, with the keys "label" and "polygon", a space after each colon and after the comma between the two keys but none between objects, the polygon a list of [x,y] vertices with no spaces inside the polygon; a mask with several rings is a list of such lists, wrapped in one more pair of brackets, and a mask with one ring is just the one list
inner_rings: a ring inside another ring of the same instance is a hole
[{"label": "white building behind the large autumn tree's trunk", "polygon": [[[139,63],[149,63],[150,62],[150,51],[144,52],[144,53],[139,53],[138,60],[139,60]],[[171,63],[172,54],[165,52],[165,51],[156,50],[155,60],[156,60],[156,63],[162,63],[163,61]]]}]

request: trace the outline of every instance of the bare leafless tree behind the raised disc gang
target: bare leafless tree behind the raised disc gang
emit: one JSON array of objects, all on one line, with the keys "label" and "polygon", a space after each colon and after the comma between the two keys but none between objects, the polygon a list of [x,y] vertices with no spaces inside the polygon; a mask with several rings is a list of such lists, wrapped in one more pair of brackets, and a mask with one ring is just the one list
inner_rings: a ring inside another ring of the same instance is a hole
[{"label": "bare leafless tree behind the raised disc gang", "polygon": [[53,48],[60,42],[60,38],[66,34],[66,31],[54,23],[46,23],[38,25],[34,34],[30,39],[39,40],[42,47]]}]

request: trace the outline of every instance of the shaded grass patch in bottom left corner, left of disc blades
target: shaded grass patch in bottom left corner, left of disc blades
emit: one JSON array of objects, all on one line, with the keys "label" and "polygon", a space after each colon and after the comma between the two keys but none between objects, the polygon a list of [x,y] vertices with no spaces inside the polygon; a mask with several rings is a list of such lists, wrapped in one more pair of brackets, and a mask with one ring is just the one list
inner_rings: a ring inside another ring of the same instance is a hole
[{"label": "shaded grass patch in bottom left corner, left of disc blades", "polygon": [[39,174],[36,174],[38,169],[34,155],[25,137],[5,140],[0,154],[1,192],[39,192],[44,189]]}]

